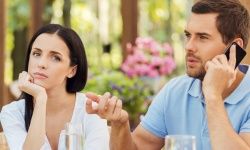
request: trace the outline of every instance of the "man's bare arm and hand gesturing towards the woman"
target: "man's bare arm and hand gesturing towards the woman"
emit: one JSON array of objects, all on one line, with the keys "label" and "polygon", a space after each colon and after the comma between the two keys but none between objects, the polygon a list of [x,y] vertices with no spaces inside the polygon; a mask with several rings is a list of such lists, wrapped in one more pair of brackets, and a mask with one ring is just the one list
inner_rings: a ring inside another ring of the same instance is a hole
[{"label": "man's bare arm and hand gesturing towards the woman", "polygon": [[[128,113],[122,109],[122,103],[109,93],[97,96],[93,93],[86,94],[86,110],[88,113],[97,114],[111,122],[110,148],[111,150],[160,150],[164,139],[146,131],[139,125],[131,134]],[[94,108],[92,101],[98,103]]]}]

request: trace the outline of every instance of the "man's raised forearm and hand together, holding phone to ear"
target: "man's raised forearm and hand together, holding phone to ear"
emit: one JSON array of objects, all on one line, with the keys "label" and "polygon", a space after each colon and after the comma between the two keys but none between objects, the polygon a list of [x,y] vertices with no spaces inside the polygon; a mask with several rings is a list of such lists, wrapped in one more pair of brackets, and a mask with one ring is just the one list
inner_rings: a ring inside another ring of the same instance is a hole
[{"label": "man's raised forearm and hand together, holding phone to ear", "polygon": [[[237,134],[224,106],[224,98],[241,82],[240,73],[234,70],[236,48],[230,49],[230,59],[218,55],[206,63],[202,90],[206,101],[209,135],[213,150],[249,150],[250,133]],[[238,74],[238,76],[236,76]]]}]

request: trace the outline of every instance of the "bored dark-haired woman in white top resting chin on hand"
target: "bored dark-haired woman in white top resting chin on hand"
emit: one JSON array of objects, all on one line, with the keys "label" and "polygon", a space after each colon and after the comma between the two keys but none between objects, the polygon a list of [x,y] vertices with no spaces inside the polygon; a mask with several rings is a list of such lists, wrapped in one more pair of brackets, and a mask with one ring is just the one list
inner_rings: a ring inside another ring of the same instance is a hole
[{"label": "bored dark-haired woman in white top resting chin on hand", "polygon": [[85,149],[108,149],[106,121],[85,111],[81,91],[87,59],[79,36],[56,24],[32,37],[25,71],[19,74],[21,98],[2,108],[1,123],[11,150],[62,149],[67,122],[84,125]]}]

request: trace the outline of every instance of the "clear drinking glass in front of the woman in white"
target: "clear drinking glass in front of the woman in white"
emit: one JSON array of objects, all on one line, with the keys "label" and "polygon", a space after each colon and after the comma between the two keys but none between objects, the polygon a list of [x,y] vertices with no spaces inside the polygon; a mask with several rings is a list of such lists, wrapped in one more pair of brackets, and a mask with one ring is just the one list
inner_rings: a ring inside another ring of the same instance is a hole
[{"label": "clear drinking glass in front of the woman in white", "polygon": [[82,124],[66,123],[64,146],[65,150],[84,150],[84,131]]}]

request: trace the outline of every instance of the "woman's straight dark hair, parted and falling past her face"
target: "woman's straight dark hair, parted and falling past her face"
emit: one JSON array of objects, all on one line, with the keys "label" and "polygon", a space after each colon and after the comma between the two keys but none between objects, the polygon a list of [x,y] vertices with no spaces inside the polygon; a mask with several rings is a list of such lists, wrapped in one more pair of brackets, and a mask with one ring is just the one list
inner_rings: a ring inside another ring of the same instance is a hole
[{"label": "woman's straight dark hair, parted and falling past her face", "polygon": [[[75,93],[81,91],[86,82],[88,74],[88,64],[85,54],[84,45],[75,31],[70,28],[63,27],[58,24],[49,24],[40,28],[31,38],[26,52],[25,71],[28,71],[30,52],[32,45],[37,37],[43,33],[56,34],[60,37],[69,49],[70,66],[76,66],[76,74],[72,78],[67,78],[66,91]],[[25,92],[22,92],[19,99],[25,99],[25,128],[28,131],[30,121],[33,115],[34,104],[33,97]]]}]

